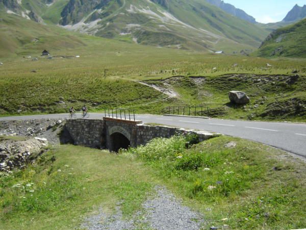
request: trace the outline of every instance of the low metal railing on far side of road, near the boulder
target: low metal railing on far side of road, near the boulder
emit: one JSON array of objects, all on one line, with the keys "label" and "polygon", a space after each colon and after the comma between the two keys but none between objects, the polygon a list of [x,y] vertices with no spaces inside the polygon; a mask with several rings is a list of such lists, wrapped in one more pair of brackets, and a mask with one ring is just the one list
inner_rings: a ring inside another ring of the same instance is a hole
[{"label": "low metal railing on far side of road, near the boulder", "polygon": [[195,117],[210,117],[224,114],[224,108],[209,108],[206,106],[168,106],[165,111],[170,115]]}]

